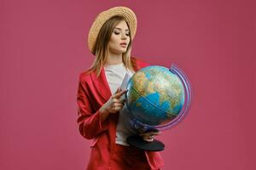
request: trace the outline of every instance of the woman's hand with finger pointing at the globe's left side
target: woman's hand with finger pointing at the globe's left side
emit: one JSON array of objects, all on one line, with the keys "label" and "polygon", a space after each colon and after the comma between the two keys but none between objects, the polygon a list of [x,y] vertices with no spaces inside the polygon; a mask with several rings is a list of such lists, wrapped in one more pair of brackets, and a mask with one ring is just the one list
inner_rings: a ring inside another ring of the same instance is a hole
[{"label": "woman's hand with finger pointing at the globe's left side", "polygon": [[102,105],[100,112],[105,114],[119,112],[125,105],[125,99],[121,99],[120,97],[126,92],[127,90],[121,90],[118,88],[115,94],[113,94],[108,101]]}]

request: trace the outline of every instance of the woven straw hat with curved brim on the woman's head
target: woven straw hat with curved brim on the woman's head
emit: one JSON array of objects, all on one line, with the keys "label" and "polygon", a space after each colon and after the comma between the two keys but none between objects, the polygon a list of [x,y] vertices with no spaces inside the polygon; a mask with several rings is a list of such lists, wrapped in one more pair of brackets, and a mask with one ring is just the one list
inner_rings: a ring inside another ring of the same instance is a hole
[{"label": "woven straw hat with curved brim on the woman's head", "polygon": [[131,8],[127,7],[113,7],[98,14],[88,34],[88,47],[92,53],[92,48],[95,45],[96,38],[103,24],[113,16],[123,16],[130,27],[131,39],[135,37],[137,31],[137,17]]}]

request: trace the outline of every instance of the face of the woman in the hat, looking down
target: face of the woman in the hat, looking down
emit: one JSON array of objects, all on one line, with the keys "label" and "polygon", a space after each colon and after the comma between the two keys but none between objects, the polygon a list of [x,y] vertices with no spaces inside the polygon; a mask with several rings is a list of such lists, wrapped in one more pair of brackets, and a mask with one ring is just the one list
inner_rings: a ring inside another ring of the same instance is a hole
[{"label": "face of the woman in the hat, looking down", "polygon": [[113,29],[112,35],[108,42],[110,53],[123,54],[125,53],[128,44],[130,42],[130,31],[125,22],[121,20],[117,26]]}]

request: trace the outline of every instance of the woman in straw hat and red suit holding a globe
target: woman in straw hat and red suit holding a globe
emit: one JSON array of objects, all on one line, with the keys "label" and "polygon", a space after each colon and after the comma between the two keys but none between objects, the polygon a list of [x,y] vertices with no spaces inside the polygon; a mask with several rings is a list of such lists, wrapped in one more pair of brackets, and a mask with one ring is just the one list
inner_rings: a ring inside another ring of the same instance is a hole
[{"label": "woman in straw hat and red suit holding a globe", "polygon": [[[136,15],[125,7],[103,11],[90,28],[88,45],[96,58],[80,74],[77,98],[79,132],[93,141],[87,169],[160,169],[163,164],[159,152],[137,150],[125,140],[135,132],[125,122],[125,90],[119,86],[125,73],[148,65],[131,57],[136,30]],[[140,135],[150,142],[158,133]]]}]

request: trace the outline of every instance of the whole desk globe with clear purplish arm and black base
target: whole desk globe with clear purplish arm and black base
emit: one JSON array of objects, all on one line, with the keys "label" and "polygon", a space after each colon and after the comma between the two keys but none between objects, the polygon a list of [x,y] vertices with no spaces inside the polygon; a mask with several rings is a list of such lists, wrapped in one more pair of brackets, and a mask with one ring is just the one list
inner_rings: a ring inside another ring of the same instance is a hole
[{"label": "whole desk globe with clear purplish arm and black base", "polygon": [[[176,65],[171,69],[152,65],[137,71],[126,85],[127,120],[138,133],[160,131],[177,125],[189,111],[191,88],[189,79]],[[138,135],[129,136],[127,143],[148,151],[164,150],[157,139],[145,142]]]}]

